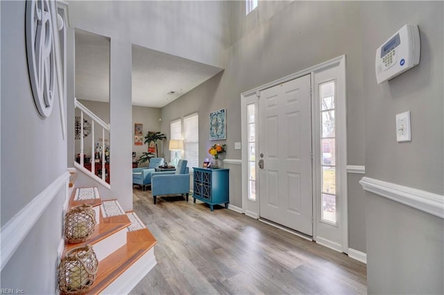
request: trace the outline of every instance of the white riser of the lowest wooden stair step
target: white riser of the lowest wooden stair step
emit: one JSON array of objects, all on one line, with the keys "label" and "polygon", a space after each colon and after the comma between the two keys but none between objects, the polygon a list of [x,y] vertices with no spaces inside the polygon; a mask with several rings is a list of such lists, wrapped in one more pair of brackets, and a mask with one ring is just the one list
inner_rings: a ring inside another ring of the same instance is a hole
[{"label": "white riser of the lowest wooden stair step", "polygon": [[106,287],[101,294],[128,294],[157,265],[154,247]]}]

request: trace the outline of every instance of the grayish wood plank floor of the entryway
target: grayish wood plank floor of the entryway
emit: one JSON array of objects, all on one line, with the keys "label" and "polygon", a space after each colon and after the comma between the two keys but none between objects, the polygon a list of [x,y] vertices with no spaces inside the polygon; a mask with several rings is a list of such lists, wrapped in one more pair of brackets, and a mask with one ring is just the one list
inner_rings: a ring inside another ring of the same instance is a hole
[{"label": "grayish wood plank floor of the entryway", "polygon": [[366,265],[222,206],[133,193],[157,265],[130,294],[366,294]]}]

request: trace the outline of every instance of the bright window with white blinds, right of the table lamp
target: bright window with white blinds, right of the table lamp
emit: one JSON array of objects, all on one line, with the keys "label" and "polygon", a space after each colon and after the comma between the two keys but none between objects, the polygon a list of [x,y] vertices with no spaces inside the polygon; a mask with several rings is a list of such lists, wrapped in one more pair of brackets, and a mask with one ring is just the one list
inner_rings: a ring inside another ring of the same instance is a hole
[{"label": "bright window with white blinds, right of the table lamp", "polygon": [[192,114],[183,118],[184,158],[188,167],[199,167],[199,116]]}]

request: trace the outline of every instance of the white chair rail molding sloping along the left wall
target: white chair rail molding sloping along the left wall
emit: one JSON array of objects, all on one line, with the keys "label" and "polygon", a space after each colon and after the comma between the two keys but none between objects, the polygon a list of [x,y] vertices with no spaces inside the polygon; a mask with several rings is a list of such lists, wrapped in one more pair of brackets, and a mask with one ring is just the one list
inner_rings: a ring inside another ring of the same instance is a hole
[{"label": "white chair rail molding sloping along the left wall", "polygon": [[60,175],[11,220],[1,226],[1,269],[8,263],[58,192],[64,185],[68,186],[69,175],[69,172]]}]

